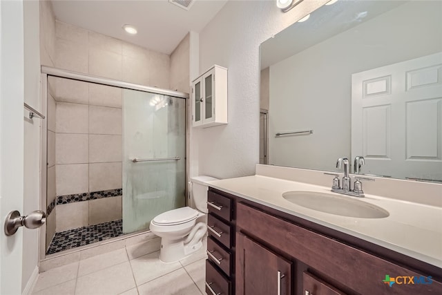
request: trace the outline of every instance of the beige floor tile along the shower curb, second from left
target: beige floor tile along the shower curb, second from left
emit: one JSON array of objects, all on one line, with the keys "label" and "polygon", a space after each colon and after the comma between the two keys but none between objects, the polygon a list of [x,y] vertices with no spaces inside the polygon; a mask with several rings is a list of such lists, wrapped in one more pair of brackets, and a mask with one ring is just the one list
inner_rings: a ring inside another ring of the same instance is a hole
[{"label": "beige floor tile along the shower curb, second from left", "polygon": [[78,276],[85,276],[86,274],[97,272],[100,269],[105,269],[112,265],[119,265],[125,261],[128,261],[125,249],[118,249],[106,254],[93,256],[80,261]]}]

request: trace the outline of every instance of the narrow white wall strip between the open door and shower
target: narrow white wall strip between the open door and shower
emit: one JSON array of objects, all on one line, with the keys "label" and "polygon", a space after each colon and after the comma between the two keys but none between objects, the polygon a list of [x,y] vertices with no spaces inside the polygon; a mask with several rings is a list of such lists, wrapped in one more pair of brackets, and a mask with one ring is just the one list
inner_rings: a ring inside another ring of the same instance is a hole
[{"label": "narrow white wall strip between the open door and shower", "polygon": [[[41,113],[39,2],[23,1],[24,18],[24,101]],[[28,112],[25,112],[28,115]],[[23,215],[40,209],[40,127],[41,120],[24,120]],[[43,209],[46,211],[46,208]],[[30,288],[37,275],[39,230],[23,230],[22,291]]]}]

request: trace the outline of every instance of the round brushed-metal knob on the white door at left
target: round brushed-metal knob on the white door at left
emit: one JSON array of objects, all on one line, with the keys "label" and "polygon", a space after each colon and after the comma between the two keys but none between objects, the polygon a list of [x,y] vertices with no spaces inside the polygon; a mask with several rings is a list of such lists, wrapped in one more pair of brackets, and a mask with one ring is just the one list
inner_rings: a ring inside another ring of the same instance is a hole
[{"label": "round brushed-metal knob on the white door at left", "polygon": [[37,229],[37,227],[44,225],[44,222],[46,222],[46,213],[44,211],[32,211],[27,216],[21,216],[17,210],[10,211],[5,220],[5,234],[6,236],[12,236],[23,225],[28,229]]}]

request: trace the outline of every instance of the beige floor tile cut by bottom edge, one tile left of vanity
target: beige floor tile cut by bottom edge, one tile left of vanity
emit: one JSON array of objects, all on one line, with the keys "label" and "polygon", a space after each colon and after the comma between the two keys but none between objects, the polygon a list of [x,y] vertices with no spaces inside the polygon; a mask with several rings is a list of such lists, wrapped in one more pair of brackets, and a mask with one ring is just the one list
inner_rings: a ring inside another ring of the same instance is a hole
[{"label": "beige floor tile cut by bottom edge, one tile left of vanity", "polygon": [[138,287],[140,295],[197,295],[198,287],[184,269],[166,274]]}]

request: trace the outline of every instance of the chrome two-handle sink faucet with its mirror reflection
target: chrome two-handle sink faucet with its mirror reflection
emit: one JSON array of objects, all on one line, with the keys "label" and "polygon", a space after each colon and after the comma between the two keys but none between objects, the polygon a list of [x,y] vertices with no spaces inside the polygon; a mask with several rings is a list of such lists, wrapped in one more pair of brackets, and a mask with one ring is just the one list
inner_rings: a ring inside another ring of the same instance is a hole
[{"label": "chrome two-handle sink faucet with its mirror reflection", "polygon": [[[358,159],[358,165],[361,163],[364,164],[364,158],[363,157],[356,157]],[[361,180],[369,180],[374,181],[373,178],[365,178],[365,177],[359,177],[355,176],[354,179],[354,189],[351,188],[351,182],[349,178],[349,162],[347,158],[339,158],[336,161],[336,168],[340,168],[342,164],[344,163],[344,177],[343,177],[343,186],[340,187],[339,183],[339,175],[336,173],[324,173],[327,175],[334,175],[333,178],[333,185],[332,185],[332,191],[334,193],[343,193],[345,195],[354,196],[354,197],[363,197],[364,191],[362,190],[362,182]],[[355,159],[356,163],[356,159]],[[356,167],[356,164],[355,164]],[[358,166],[358,169],[360,169],[361,166]]]}]

